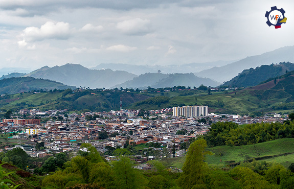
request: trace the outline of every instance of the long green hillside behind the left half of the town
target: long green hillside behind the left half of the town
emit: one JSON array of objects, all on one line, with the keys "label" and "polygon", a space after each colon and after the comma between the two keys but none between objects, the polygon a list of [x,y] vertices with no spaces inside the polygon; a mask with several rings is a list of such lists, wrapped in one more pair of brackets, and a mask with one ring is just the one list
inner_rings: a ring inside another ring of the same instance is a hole
[{"label": "long green hillside behind the left half of the town", "polygon": [[120,98],[125,108],[131,103],[139,102],[150,98],[143,93],[130,93],[120,91],[102,90],[60,90],[52,92],[24,92],[15,95],[6,95],[0,98],[0,107],[19,110],[22,108],[69,109],[92,111],[109,111],[120,109]]}]

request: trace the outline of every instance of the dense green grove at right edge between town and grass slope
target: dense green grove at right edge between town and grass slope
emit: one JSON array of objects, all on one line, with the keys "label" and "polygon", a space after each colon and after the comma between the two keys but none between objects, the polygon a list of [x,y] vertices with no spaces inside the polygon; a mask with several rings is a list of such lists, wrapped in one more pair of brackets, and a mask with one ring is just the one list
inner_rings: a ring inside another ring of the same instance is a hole
[{"label": "dense green grove at right edge between town and grass slope", "polygon": [[256,123],[242,127],[227,122],[217,122],[211,125],[210,132],[205,136],[209,147],[241,146],[263,143],[277,138],[294,137],[294,123]]}]

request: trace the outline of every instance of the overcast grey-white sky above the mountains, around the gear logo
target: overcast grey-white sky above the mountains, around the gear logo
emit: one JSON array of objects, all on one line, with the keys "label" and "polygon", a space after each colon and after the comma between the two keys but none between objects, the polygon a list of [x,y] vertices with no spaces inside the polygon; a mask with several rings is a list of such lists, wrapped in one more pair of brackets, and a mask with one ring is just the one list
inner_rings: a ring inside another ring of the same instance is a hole
[{"label": "overcast grey-white sky above the mountains, around the gear logo", "polygon": [[[237,60],[294,45],[293,1],[0,0],[0,68]],[[283,8],[282,28],[266,25]]]}]

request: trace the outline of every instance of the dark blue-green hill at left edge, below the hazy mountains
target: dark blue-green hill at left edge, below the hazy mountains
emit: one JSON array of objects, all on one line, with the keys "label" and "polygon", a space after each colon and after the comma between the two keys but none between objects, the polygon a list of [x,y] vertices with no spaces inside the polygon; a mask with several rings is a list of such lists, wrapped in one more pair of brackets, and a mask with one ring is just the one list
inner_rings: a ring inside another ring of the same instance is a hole
[{"label": "dark blue-green hill at left edge, below the hazy mountains", "polygon": [[33,90],[54,90],[54,89],[67,89],[75,88],[67,86],[56,81],[36,79],[32,77],[23,78],[8,78],[0,80],[0,94],[15,94],[19,92],[28,92]]}]

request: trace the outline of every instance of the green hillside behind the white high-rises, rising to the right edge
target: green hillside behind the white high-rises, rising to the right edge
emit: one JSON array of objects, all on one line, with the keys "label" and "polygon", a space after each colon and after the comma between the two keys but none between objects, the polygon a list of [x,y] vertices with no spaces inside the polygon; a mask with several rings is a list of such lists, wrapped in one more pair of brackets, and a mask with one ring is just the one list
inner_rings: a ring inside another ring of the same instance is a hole
[{"label": "green hillside behind the white high-rises, rising to the right edge", "polygon": [[209,112],[241,115],[255,112],[292,111],[294,109],[294,71],[243,90],[212,92],[211,95],[208,95],[208,91],[198,90],[192,93],[184,90],[180,95],[175,95],[175,92],[164,92],[163,95],[170,99],[155,104],[150,101],[138,102],[131,104],[130,107],[161,109],[183,105],[207,105]]}]

